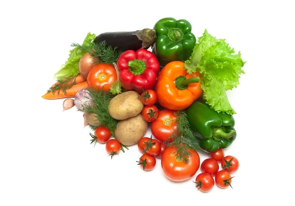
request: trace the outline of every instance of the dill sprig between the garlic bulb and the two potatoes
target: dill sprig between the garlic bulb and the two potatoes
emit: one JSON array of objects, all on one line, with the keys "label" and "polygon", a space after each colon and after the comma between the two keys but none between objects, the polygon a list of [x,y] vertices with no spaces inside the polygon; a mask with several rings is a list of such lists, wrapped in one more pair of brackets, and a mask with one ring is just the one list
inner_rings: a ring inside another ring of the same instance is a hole
[{"label": "dill sprig between the garlic bulb and the two potatoes", "polygon": [[[83,108],[80,111],[94,113],[96,118],[100,121],[100,124],[107,127],[111,131],[112,136],[116,139],[115,130],[117,128],[118,120],[110,116],[108,109],[110,101],[115,95],[103,90],[103,88],[87,88],[87,90],[94,105],[82,104]],[[121,144],[121,150],[123,152],[125,152],[123,147],[128,149]]]}]

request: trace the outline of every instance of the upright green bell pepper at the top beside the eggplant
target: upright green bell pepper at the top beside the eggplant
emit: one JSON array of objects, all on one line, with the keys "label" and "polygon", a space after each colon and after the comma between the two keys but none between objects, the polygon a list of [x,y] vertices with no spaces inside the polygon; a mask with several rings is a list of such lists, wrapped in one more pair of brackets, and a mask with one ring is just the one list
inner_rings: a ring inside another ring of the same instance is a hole
[{"label": "upright green bell pepper at the top beside the eggplant", "polygon": [[155,26],[157,40],[153,45],[152,52],[164,67],[171,61],[185,61],[190,58],[196,45],[196,37],[191,32],[191,24],[184,20],[164,18]]}]

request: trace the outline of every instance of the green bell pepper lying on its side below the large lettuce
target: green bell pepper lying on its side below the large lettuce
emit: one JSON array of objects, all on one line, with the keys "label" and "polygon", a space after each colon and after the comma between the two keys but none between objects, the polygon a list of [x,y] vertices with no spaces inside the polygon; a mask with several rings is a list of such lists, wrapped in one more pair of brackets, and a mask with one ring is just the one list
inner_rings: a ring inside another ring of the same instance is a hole
[{"label": "green bell pepper lying on its side below the large lettuce", "polygon": [[217,113],[202,101],[194,101],[186,109],[190,127],[200,140],[200,146],[207,152],[229,147],[236,139],[233,115]]}]

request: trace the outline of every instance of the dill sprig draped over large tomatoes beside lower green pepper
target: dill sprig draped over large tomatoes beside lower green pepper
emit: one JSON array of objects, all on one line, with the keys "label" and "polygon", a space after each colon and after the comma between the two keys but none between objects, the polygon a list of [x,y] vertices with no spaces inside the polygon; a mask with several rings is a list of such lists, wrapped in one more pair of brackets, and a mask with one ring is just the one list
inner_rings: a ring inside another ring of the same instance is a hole
[{"label": "dill sprig draped over large tomatoes beside lower green pepper", "polygon": [[177,111],[175,115],[177,116],[175,119],[175,121],[177,121],[177,129],[164,141],[164,144],[167,145],[167,147],[176,147],[177,151],[175,155],[178,161],[183,160],[185,163],[189,163],[189,157],[192,156],[189,149],[199,151],[200,144],[190,128],[185,111]]}]

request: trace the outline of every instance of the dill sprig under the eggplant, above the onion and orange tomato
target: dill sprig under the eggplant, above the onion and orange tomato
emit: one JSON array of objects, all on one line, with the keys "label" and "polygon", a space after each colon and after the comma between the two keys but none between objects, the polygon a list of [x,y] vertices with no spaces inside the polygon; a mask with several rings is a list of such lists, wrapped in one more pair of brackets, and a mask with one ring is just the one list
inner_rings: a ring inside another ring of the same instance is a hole
[{"label": "dill sprig under the eggplant, above the onion and orange tomato", "polygon": [[117,62],[119,56],[122,54],[117,47],[113,48],[110,45],[107,46],[106,41],[102,41],[99,43],[92,43],[90,45],[80,45],[77,43],[73,43],[71,46],[78,47],[80,50],[88,50],[89,54],[93,58],[93,63],[108,63],[113,64]]}]

